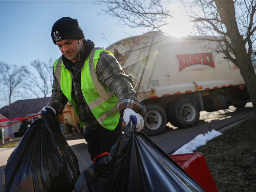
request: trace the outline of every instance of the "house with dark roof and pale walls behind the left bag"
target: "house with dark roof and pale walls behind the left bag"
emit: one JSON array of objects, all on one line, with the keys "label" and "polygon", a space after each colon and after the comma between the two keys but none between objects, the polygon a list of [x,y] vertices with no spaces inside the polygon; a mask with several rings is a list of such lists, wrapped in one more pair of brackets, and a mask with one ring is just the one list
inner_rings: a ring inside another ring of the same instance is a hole
[{"label": "house with dark roof and pale walls behind the left bag", "polygon": [[[38,98],[38,99],[25,99],[15,101],[11,105],[4,106],[0,109],[0,119],[1,118],[18,118],[18,117],[30,117],[41,112],[41,109],[44,108],[50,97]],[[34,122],[39,117],[31,118]],[[15,121],[5,121],[1,123],[2,125],[10,125]],[[15,137],[14,133],[19,131],[21,121],[10,125],[4,128],[5,137]]]}]

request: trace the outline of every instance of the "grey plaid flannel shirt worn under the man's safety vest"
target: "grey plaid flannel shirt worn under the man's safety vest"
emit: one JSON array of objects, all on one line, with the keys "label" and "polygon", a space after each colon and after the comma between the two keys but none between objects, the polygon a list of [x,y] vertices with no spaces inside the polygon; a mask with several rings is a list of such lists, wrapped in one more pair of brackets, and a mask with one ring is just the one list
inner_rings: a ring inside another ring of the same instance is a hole
[{"label": "grey plaid flannel shirt worn under the man's safety vest", "polygon": [[[121,115],[123,115],[123,112],[126,108],[131,108],[140,115],[143,115],[146,112],[146,106],[143,103],[137,101],[136,91],[133,89],[133,86],[129,81],[131,75],[128,76],[124,73],[123,69],[121,68],[115,57],[113,57],[108,52],[101,52],[96,67],[96,73],[102,84],[108,87],[110,92],[116,95],[116,97],[118,98],[117,110]],[[80,118],[84,122],[86,127],[89,127],[90,129],[96,129],[100,124],[94,117],[83,97],[83,93],[81,90],[81,71],[79,71],[75,77],[77,87],[76,89],[74,89],[74,74],[72,72],[71,76],[72,94],[75,95]],[[65,97],[60,89],[54,73],[54,68],[53,78],[52,97],[50,98],[46,107],[54,107],[59,112],[61,112],[64,109],[68,99]]]}]

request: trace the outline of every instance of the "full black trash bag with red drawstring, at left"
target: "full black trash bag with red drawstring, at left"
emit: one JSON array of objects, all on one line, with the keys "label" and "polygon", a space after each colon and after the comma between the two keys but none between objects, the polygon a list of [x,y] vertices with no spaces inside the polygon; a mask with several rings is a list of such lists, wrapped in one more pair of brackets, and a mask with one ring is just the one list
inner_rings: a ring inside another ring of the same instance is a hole
[{"label": "full black trash bag with red drawstring, at left", "polygon": [[42,114],[8,158],[5,192],[71,192],[80,174],[78,160],[55,118]]}]

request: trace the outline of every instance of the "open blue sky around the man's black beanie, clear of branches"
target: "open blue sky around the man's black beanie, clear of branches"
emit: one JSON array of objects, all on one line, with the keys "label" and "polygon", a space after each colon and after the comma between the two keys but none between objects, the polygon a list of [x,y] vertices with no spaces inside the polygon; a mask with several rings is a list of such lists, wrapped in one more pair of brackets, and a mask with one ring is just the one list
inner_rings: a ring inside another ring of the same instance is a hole
[{"label": "open blue sky around the man's black beanie, clear of branches", "polygon": [[[177,1],[173,2],[168,5],[175,11]],[[30,67],[33,60],[46,61],[49,57],[60,57],[61,53],[53,44],[50,32],[54,22],[64,16],[78,19],[85,38],[93,40],[99,47],[109,45],[102,39],[100,31],[110,43],[129,37],[128,34],[133,36],[147,32],[147,29],[118,25],[117,18],[100,15],[104,6],[95,5],[91,0],[0,0],[0,61]],[[179,27],[184,26],[179,14],[176,14],[176,19],[170,20],[172,25],[166,27],[166,30],[170,29],[170,34],[182,34],[184,31]],[[176,29],[176,32],[172,29]]]}]

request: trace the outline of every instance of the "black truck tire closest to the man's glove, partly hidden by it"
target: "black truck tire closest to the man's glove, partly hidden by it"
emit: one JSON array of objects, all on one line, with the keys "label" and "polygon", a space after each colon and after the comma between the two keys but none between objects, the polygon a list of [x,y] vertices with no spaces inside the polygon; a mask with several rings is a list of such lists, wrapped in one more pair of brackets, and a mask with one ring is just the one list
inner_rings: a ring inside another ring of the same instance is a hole
[{"label": "black truck tire closest to the man's glove, partly hidden by it", "polygon": [[162,133],[167,124],[165,110],[155,104],[147,105],[146,113],[142,116],[144,119],[144,127],[142,132],[147,136],[153,136]]}]

